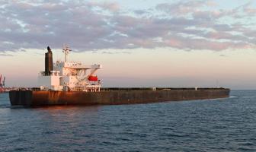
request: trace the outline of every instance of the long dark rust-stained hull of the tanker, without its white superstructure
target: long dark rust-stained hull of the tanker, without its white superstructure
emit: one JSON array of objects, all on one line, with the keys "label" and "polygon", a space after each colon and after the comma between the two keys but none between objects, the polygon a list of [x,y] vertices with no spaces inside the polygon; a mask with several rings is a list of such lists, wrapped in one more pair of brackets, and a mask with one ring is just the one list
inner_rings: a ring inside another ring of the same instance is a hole
[{"label": "long dark rust-stained hull of the tanker, without its white superstructure", "polygon": [[104,88],[101,92],[11,90],[12,106],[118,105],[229,97],[225,88]]}]

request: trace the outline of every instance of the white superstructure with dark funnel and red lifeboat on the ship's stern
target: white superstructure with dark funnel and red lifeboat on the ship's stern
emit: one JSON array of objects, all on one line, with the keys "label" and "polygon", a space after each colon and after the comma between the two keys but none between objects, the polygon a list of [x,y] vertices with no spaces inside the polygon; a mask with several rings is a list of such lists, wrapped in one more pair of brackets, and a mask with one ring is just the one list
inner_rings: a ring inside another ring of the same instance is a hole
[{"label": "white superstructure with dark funnel and red lifeboat on the ship's stern", "polygon": [[69,46],[63,46],[64,61],[51,63],[49,61],[53,60],[53,55],[49,46],[47,49],[48,52],[46,52],[45,58],[46,70],[40,71],[38,75],[40,90],[86,92],[99,92],[101,90],[101,81],[98,80],[98,76],[95,73],[102,68],[102,65],[83,65],[82,62],[69,62],[68,55],[71,51]]}]

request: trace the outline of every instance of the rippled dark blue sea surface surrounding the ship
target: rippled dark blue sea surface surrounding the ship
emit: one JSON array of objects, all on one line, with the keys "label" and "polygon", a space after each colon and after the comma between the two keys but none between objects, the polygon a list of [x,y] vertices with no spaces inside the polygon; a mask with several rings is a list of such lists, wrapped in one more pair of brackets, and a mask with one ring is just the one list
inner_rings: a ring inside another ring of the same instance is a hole
[{"label": "rippled dark blue sea surface surrounding the ship", "polygon": [[230,98],[119,106],[10,106],[0,151],[256,151],[256,90]]}]

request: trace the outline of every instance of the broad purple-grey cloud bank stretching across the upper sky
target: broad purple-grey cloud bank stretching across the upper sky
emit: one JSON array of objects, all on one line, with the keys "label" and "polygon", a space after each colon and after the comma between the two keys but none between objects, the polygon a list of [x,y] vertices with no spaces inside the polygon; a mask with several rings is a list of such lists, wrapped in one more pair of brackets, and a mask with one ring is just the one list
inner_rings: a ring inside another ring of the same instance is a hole
[{"label": "broad purple-grey cloud bank stretching across the upper sky", "polygon": [[[125,10],[117,2],[1,1],[0,50],[224,49],[254,48],[255,8],[223,10],[210,0]],[[242,18],[241,18],[242,17]],[[251,19],[250,24],[245,20]]]}]

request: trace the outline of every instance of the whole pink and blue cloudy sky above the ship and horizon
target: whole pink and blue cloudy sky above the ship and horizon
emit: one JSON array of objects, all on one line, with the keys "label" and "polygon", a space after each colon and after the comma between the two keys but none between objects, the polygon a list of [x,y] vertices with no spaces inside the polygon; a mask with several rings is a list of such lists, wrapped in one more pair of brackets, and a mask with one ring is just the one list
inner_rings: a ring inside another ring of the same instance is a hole
[{"label": "whole pink and blue cloudy sky above the ship and horizon", "polygon": [[256,89],[256,2],[0,0],[0,74],[35,87],[53,60],[102,64],[104,87]]}]

